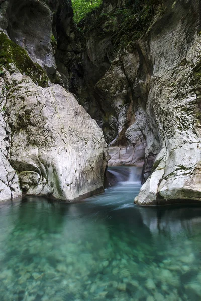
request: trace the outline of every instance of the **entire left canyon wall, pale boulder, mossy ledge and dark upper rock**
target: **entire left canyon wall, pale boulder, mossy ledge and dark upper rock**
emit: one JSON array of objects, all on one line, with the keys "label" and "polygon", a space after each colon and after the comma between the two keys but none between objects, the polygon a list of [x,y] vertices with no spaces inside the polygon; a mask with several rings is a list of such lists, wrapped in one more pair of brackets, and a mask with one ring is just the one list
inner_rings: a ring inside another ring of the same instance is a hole
[{"label": "entire left canyon wall, pale boulder, mossy ledge and dark upper rock", "polygon": [[62,81],[54,14],[63,6],[72,16],[62,1],[0,3],[0,201],[22,195],[74,201],[104,190],[103,131],[54,84]]}]

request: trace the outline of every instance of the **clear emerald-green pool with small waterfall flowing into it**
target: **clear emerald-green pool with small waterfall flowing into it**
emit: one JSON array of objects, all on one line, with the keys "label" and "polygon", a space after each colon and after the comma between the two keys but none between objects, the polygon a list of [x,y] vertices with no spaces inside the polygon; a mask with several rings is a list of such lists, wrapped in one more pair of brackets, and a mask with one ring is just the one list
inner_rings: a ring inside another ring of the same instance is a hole
[{"label": "clear emerald-green pool with small waterfall flowing into it", "polygon": [[201,207],[134,205],[130,171],[81,203],[0,205],[0,300],[200,301]]}]

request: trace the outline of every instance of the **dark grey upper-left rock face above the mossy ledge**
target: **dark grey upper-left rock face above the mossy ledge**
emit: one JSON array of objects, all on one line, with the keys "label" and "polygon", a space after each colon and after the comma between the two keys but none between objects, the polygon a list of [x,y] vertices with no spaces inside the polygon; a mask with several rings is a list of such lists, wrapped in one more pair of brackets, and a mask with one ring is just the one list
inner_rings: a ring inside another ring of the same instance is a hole
[{"label": "dark grey upper-left rock face above the mossy ledge", "polygon": [[[71,2],[68,0],[0,2],[0,28],[8,33],[12,41],[27,51],[33,62],[46,70],[52,82],[62,84],[64,83],[57,71],[59,66],[56,65],[55,57],[57,39],[58,35],[68,38],[71,27],[74,29],[72,16]],[[66,41],[66,51],[69,42]]]}]

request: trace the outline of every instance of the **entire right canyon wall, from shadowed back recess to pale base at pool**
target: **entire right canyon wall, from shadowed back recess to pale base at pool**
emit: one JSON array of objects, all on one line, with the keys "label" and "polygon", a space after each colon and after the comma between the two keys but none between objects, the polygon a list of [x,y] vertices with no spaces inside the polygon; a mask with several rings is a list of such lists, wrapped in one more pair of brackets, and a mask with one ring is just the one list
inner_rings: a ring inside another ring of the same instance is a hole
[{"label": "entire right canyon wall, from shadowed back recess to pale base at pool", "polygon": [[[196,202],[201,200],[200,5],[198,0],[153,3],[146,31],[134,16],[124,19],[118,35],[117,24],[128,9],[124,1],[104,1],[98,16],[82,24],[82,102],[103,128],[109,164],[145,160],[146,182],[137,204]],[[117,46],[119,38],[124,43]],[[77,95],[80,86],[73,87]]]}]

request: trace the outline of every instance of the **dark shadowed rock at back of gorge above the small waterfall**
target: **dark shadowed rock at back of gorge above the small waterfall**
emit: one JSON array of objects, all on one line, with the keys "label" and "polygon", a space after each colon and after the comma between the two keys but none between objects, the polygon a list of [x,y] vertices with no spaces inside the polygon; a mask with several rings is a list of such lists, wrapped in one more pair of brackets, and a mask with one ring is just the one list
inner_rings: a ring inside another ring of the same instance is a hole
[{"label": "dark shadowed rock at back of gorge above the small waterfall", "polygon": [[[134,114],[136,103],[133,99],[139,98],[139,87],[135,91],[132,88],[137,73],[144,83],[144,73],[141,76],[139,72],[144,66],[140,65],[133,50],[119,51],[116,56],[115,43],[121,39],[119,22],[122,29],[127,27],[128,21],[124,6],[124,1],[104,1],[98,12],[93,12],[80,24],[85,41],[72,23],[68,24],[68,31],[64,31],[63,19],[59,19],[63,30],[57,41],[58,69],[68,79],[70,91],[78,96],[79,102],[103,128],[111,147],[109,165],[143,164],[145,157],[144,137],[135,123]],[[135,28],[136,20],[129,21],[133,21]],[[67,49],[65,45],[68,45]],[[149,66],[146,68],[150,69]],[[146,70],[146,73],[149,72]],[[127,131],[129,126],[132,126],[132,131]],[[129,150],[129,156],[124,156],[125,150]]]}]

